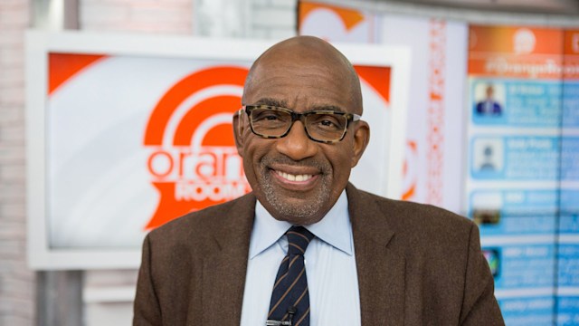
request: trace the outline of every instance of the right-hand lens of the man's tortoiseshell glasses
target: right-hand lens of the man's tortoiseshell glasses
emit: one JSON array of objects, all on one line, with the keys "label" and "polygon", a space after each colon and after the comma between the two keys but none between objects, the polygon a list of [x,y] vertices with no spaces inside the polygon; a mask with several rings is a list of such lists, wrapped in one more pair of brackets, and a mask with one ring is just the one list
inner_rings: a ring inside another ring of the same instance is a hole
[{"label": "right-hand lens of the man's tortoiseshell glasses", "polygon": [[312,113],[306,116],[306,129],[313,139],[334,141],[342,139],[347,127],[343,114]]}]

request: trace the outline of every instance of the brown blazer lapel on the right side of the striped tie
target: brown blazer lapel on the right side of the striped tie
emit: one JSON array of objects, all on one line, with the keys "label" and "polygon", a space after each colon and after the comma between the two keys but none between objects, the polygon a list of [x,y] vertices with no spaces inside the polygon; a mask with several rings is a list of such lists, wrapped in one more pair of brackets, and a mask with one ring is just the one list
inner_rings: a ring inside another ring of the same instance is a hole
[{"label": "brown blazer lapel on the right side of the striped tie", "polygon": [[380,208],[346,187],[354,234],[362,325],[403,325],[404,258],[390,244],[394,231]]}]

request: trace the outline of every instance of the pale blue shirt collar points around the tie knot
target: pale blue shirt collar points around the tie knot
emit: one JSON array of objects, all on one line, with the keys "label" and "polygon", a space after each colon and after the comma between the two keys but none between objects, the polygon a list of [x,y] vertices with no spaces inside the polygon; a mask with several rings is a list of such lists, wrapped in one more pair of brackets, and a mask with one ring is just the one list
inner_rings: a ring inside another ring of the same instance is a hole
[{"label": "pale blue shirt collar points around the tie knot", "polygon": [[[290,226],[289,222],[273,218],[258,200],[255,204],[250,259],[274,245]],[[324,218],[313,225],[306,225],[306,228],[328,245],[352,255],[352,226],[347,211],[346,190],[342,191],[336,204],[332,206]]]}]

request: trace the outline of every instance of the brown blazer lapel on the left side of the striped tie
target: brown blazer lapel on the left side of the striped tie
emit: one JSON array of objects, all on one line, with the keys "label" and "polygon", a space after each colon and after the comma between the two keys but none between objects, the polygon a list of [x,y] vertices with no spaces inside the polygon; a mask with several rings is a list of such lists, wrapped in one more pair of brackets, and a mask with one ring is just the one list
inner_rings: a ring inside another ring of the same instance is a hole
[{"label": "brown blazer lapel on the left side of the striped tie", "polygon": [[255,197],[242,197],[214,229],[213,249],[204,257],[203,325],[239,325]]}]

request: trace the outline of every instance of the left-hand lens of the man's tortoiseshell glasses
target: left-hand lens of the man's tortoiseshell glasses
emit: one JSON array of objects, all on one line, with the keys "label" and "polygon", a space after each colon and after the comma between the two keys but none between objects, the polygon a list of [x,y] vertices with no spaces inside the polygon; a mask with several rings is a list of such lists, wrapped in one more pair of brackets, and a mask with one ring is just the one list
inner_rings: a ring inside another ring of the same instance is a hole
[{"label": "left-hand lens of the man's tortoiseshell glasses", "polygon": [[250,119],[253,131],[266,137],[280,137],[291,125],[291,114],[283,110],[256,108]]}]

